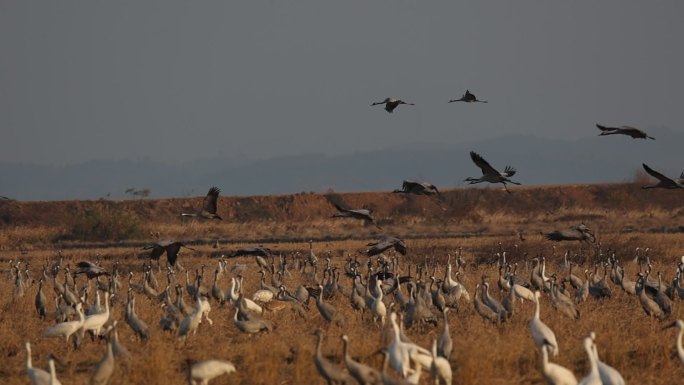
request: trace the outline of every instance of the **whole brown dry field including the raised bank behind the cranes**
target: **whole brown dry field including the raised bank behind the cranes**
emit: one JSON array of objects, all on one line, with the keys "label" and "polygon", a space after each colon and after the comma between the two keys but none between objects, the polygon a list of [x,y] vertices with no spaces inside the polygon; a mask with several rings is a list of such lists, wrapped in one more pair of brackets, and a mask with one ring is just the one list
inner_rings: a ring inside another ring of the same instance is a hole
[{"label": "whole brown dry field including the raised bank behind the cranes", "polygon": [[[63,384],[87,383],[90,368],[105,351],[103,342],[91,342],[90,339],[86,339],[79,350],[74,350],[63,339],[43,337],[42,331],[54,323],[52,283],[45,288],[51,306],[46,320],[41,321],[33,306],[37,282],[29,286],[25,296],[12,299],[10,259],[29,262],[32,276],[37,277],[46,260],[56,258],[57,249],[64,250],[64,263],[71,266],[81,260],[94,260],[95,255],[100,254],[104,267],[110,269],[116,261],[120,264],[122,277],[133,271],[139,282],[142,265],[147,262],[140,245],[152,241],[150,232],[160,232],[164,238],[184,240],[197,249],[183,252],[179,259],[191,271],[206,265],[207,272],[213,272],[217,266],[216,256],[252,246],[257,241],[279,253],[289,255],[300,251],[306,254],[308,239],[314,239],[314,251],[321,263],[329,253],[332,264],[342,269],[346,254],[362,252],[370,240],[380,234],[391,234],[406,238],[408,254],[399,259],[403,273],[409,265],[423,263],[427,258],[431,263],[439,264],[437,276],[441,278],[447,254],[453,255],[462,248],[468,265],[460,278],[471,296],[484,274],[493,288],[491,294],[501,298],[495,284],[498,273],[494,257],[500,247],[508,250],[509,260],[520,262],[518,274],[525,278],[530,274],[525,269],[525,253],[527,260],[546,256],[547,269],[558,276],[567,274],[562,266],[566,250],[570,250],[571,258],[584,263],[583,267],[590,268],[595,249],[585,247],[581,251],[582,257],[574,257],[580,252],[578,244],[558,244],[554,250],[554,245],[538,234],[584,221],[595,231],[604,250],[616,251],[626,276],[634,280],[639,269],[631,262],[635,248],[650,247],[653,271],[662,271],[670,282],[676,263],[684,254],[684,233],[681,232],[684,196],[677,193],[645,192],[634,185],[592,185],[520,188],[510,195],[499,189],[452,190],[446,192],[440,202],[386,193],[221,197],[219,213],[224,221],[220,223],[181,222],[178,219],[178,213],[183,209],[196,209],[201,199],[0,203],[0,383],[29,383],[24,367],[25,341],[32,344],[34,366],[46,368],[49,353],[64,362],[57,373]],[[354,220],[330,219],[334,212],[329,203],[331,199],[349,207],[373,208],[382,229]],[[82,223],[80,218],[86,217],[87,213],[99,217]],[[114,233],[129,231],[130,234],[91,237],[103,222],[123,228],[114,229]],[[524,241],[519,238],[519,232],[524,234]],[[220,240],[218,249],[211,246],[216,240]],[[366,258],[360,257],[360,261],[365,263]],[[229,267],[234,264],[249,265],[243,273],[243,292],[251,297],[259,286],[254,258],[228,260]],[[156,276],[160,283],[165,282],[163,273]],[[192,278],[193,273],[190,276]],[[206,274],[204,286],[211,287],[211,276]],[[224,290],[230,285],[230,277],[228,273],[220,278]],[[63,274],[59,279],[63,281]],[[177,274],[177,280],[183,284],[183,274]],[[84,279],[80,279],[79,283],[83,282]],[[285,284],[294,291],[302,282],[303,278],[293,272]],[[126,280],[122,279],[122,283],[125,293]],[[350,287],[350,280],[343,275],[341,284]],[[580,304],[581,318],[576,321],[561,316],[551,307],[547,295],[542,296],[541,318],[554,330],[560,346],[559,357],[552,361],[570,368],[578,379],[584,377],[589,366],[582,339],[594,331],[601,359],[617,368],[627,383],[684,383],[684,366],[673,356],[676,332],[674,329],[662,330],[670,321],[684,318],[681,303],[675,302],[673,314],[667,321],[659,322],[644,314],[637,298],[610,284],[613,297],[604,300],[590,297]],[[316,338],[312,333],[318,328],[325,333],[324,355],[334,362],[343,364],[340,337],[347,334],[354,358],[375,368],[381,367],[382,358],[377,352],[382,348],[382,328],[362,320],[350,307],[348,298],[340,294],[328,302],[346,318],[342,328],[327,323],[312,301],[306,319],[296,317],[287,309],[275,315],[267,313],[264,317],[273,321],[275,329],[247,335],[233,324],[231,305],[221,306],[212,301],[210,317],[214,324],[203,322],[197,334],[185,342],[160,329],[158,322],[163,310],[157,301],[143,294],[137,294],[136,298],[136,312],[150,326],[151,338],[147,342],[135,339],[123,321],[125,298],[119,298],[113,306],[112,318],[119,320],[120,341],[133,359],[127,364],[117,362],[110,384],[186,383],[186,360],[209,358],[229,360],[237,368],[236,373],[219,377],[212,384],[323,384],[325,381],[318,375],[313,361]],[[386,300],[389,304],[390,299]],[[187,294],[186,301],[191,302]],[[484,322],[472,303],[462,302],[458,312],[450,312],[454,341],[450,362],[453,383],[544,383],[539,369],[540,357],[527,327],[533,310],[532,304],[524,303],[501,326]],[[407,334],[419,345],[429,348],[441,328],[440,321],[438,327],[414,326]],[[424,372],[421,383],[432,381],[429,373]]]}]

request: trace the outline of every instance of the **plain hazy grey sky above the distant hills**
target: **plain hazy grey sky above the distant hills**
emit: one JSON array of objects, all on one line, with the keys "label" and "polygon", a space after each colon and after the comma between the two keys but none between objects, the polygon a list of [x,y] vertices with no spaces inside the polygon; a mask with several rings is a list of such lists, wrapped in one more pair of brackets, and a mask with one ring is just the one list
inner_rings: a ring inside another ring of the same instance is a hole
[{"label": "plain hazy grey sky above the distant hills", "polygon": [[682,1],[6,0],[0,161],[682,130],[683,37]]}]

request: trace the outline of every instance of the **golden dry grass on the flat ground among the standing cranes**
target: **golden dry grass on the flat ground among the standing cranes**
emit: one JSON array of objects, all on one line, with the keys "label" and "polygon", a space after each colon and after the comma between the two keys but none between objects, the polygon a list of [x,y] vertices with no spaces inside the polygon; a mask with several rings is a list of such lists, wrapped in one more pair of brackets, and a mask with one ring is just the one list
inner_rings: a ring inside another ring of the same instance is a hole
[{"label": "golden dry grass on the flat ground among the standing cranes", "polygon": [[[471,295],[474,285],[481,274],[487,274],[492,284],[497,276],[491,261],[492,251],[498,250],[499,242],[508,250],[512,250],[513,237],[489,237],[468,239],[416,239],[409,241],[410,253],[402,261],[420,262],[425,256],[443,262],[447,252],[459,247],[464,248],[464,258],[468,262],[477,260],[482,264],[470,265],[463,277]],[[681,235],[648,235],[630,234],[614,235],[603,239],[604,247],[613,247],[618,251],[618,258],[623,261],[631,259],[635,245],[654,248],[651,254],[654,260],[654,271],[662,270],[668,278],[675,263],[674,256],[681,253],[684,237]],[[321,242],[315,244],[319,258],[324,250],[330,250],[333,264],[342,267],[344,260],[339,255],[343,252],[363,249],[365,241]],[[288,243],[269,245],[283,252],[293,250],[305,251],[306,244]],[[573,250],[576,245],[570,245]],[[525,250],[530,255],[543,253],[549,256],[552,249],[547,242],[531,239],[521,244],[520,253]],[[562,249],[565,250],[565,249]],[[559,248],[558,254],[562,254]],[[204,248],[197,253],[185,253],[181,257],[186,267],[196,268],[205,264],[213,269],[216,260],[207,255],[213,249]],[[95,253],[103,253],[107,259],[104,265],[109,267],[114,260],[122,264],[124,272],[128,269],[140,271],[144,260],[133,257],[135,250],[130,248],[107,248],[88,251],[67,251],[66,263],[75,264],[81,259],[92,259]],[[512,253],[514,254],[514,253]],[[34,266],[34,276],[44,258],[54,256],[53,251],[32,251],[22,258]],[[511,258],[520,258],[511,255]],[[233,263],[254,265],[253,258],[230,260]],[[636,273],[636,266],[625,262],[628,275]],[[46,355],[54,353],[67,366],[59,371],[59,378],[64,384],[87,383],[89,368],[99,360],[104,351],[102,343],[86,340],[78,351],[67,348],[63,340],[49,339],[41,336],[42,330],[52,324],[54,308],[49,309],[48,320],[38,320],[33,308],[33,297],[37,286],[33,285],[27,295],[16,302],[11,300],[12,283],[7,278],[7,263],[3,264],[0,279],[0,382],[3,384],[25,384],[25,353],[23,342],[31,341],[34,365],[46,367]],[[256,268],[250,268],[245,274],[245,292],[252,293],[257,288]],[[551,264],[550,270],[562,275],[562,269]],[[442,273],[443,274],[443,273]],[[521,275],[529,274],[522,272]],[[207,274],[208,276],[210,274]],[[182,277],[182,275],[181,275]],[[179,277],[181,283],[183,279]],[[297,287],[300,278],[294,275],[287,282],[291,288]],[[163,277],[158,274],[161,281]],[[222,286],[226,288],[229,279],[222,278]],[[349,286],[348,280],[343,284]],[[211,282],[206,282],[210,286]],[[546,297],[542,299],[542,319],[555,331],[561,354],[555,362],[571,368],[581,378],[588,371],[586,355],[582,349],[582,338],[595,331],[601,358],[618,368],[628,383],[640,384],[674,384],[684,378],[682,365],[671,357],[674,349],[673,329],[661,330],[664,323],[647,318],[639,302],[622,291],[614,288],[614,297],[610,300],[588,300],[580,305],[582,317],[578,321],[570,321],[556,313]],[[46,294],[50,299],[54,293],[48,285]],[[496,295],[496,293],[495,293]],[[121,341],[131,351],[134,361],[128,370],[118,363],[112,384],[177,384],[184,383],[183,368],[185,360],[221,358],[232,361],[238,371],[229,376],[219,377],[216,384],[322,384],[324,381],[317,374],[313,364],[315,337],[311,335],[316,328],[326,332],[324,354],[340,363],[342,357],[342,333],[349,335],[351,352],[357,359],[380,367],[381,359],[375,352],[380,345],[380,329],[367,321],[361,321],[349,307],[348,300],[339,295],[331,302],[347,317],[346,326],[341,329],[336,325],[328,325],[311,306],[307,320],[295,318],[284,312],[273,319],[276,329],[268,334],[245,335],[240,333],[232,323],[233,310],[229,305],[223,307],[212,303],[211,318],[214,325],[200,325],[197,335],[190,336],[187,343],[178,342],[177,338],[164,333],[158,327],[162,311],[154,303],[142,295],[138,295],[138,314],[147,321],[152,329],[149,342],[141,343],[133,338],[130,328],[120,325]],[[52,302],[51,302],[52,303]],[[485,324],[474,312],[472,305],[462,306],[459,313],[450,314],[450,327],[454,339],[454,355],[451,360],[454,369],[455,384],[541,384],[543,379],[539,371],[539,357],[527,328],[527,322],[533,312],[531,304],[519,308],[512,320],[502,327]],[[116,305],[113,317],[123,320],[123,306]],[[684,318],[684,311],[679,303],[670,318]],[[409,330],[409,336],[424,347],[429,347],[440,332],[440,328],[419,328]],[[430,383],[429,375],[424,373],[422,383]]]}]

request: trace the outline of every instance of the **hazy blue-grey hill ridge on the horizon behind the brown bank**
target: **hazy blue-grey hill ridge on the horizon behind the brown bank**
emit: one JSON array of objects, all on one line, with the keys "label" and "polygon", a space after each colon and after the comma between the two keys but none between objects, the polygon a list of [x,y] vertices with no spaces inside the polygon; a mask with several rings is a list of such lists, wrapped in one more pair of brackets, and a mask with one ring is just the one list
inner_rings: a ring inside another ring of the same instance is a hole
[{"label": "hazy blue-grey hill ridge on the horizon behind the brown bank", "polygon": [[463,186],[479,169],[475,150],[494,167],[518,169],[523,184],[573,184],[633,180],[641,163],[670,176],[684,169],[684,133],[648,128],[655,141],[589,137],[576,141],[509,135],[460,144],[422,144],[327,156],[325,148],[304,155],[247,160],[224,157],[166,164],[153,160],[89,161],[68,166],[0,164],[0,195],[19,200],[125,198],[128,188],[150,197],[203,195],[213,185],[224,195],[269,195],[302,191],[387,191],[403,179],[426,180],[442,189]]}]

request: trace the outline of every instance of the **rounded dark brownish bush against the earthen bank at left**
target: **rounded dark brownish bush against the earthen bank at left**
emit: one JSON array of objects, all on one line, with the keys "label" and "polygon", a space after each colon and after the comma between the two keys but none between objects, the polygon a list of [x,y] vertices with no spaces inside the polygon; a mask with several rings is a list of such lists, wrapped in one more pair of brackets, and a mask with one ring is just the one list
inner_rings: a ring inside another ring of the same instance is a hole
[{"label": "rounded dark brownish bush against the earthen bank at left", "polygon": [[80,241],[118,241],[145,235],[140,220],[132,213],[117,210],[106,202],[86,209],[63,238]]}]

